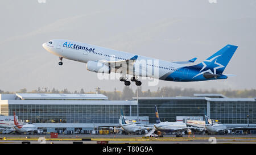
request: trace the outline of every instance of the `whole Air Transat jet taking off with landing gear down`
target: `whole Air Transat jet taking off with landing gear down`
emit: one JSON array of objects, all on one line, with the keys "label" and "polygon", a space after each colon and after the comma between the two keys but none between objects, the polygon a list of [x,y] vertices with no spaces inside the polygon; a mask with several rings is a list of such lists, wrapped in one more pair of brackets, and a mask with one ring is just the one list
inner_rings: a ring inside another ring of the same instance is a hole
[{"label": "whole Air Transat jet taking off with landing gear down", "polygon": [[[119,80],[126,86],[131,82],[141,86],[138,77],[184,82],[231,77],[233,75],[222,73],[238,47],[228,44],[203,62],[190,66],[184,64],[195,62],[196,57],[188,61],[170,62],[71,40],[50,40],[43,43],[43,48],[59,56],[59,65],[63,65],[63,58],[83,62],[91,72],[120,73],[122,76]],[[127,75],[132,76],[131,82]]]}]

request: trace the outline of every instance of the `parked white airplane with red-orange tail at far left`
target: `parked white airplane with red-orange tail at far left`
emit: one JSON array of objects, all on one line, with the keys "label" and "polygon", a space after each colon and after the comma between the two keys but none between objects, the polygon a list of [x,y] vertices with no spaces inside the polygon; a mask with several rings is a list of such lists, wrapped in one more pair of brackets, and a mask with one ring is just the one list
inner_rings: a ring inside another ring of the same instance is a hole
[{"label": "parked white airplane with red-orange tail at far left", "polygon": [[24,133],[24,132],[37,133],[38,132],[38,128],[32,123],[19,124],[18,120],[16,119],[15,112],[13,112],[13,114],[14,114],[14,126],[13,127],[14,127],[15,131],[17,131],[18,133]]}]

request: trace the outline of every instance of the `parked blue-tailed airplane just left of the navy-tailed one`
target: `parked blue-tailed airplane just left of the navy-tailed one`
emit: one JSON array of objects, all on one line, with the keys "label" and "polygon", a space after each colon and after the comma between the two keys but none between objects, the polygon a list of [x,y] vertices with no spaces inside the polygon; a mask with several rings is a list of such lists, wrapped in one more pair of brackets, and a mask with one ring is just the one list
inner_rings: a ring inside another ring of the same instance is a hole
[{"label": "parked blue-tailed airplane just left of the navy-tailed one", "polygon": [[[118,127],[114,127],[114,129],[119,129],[121,131],[124,131],[127,134],[137,134],[141,135],[144,133],[148,133],[148,129],[154,129],[153,125],[146,125],[146,124],[140,124],[133,121],[133,123],[127,123],[125,121],[125,117],[123,116],[123,111],[121,109],[121,123],[118,125]],[[108,128],[108,127],[96,127],[96,128]],[[113,128],[109,128],[113,129]]]}]

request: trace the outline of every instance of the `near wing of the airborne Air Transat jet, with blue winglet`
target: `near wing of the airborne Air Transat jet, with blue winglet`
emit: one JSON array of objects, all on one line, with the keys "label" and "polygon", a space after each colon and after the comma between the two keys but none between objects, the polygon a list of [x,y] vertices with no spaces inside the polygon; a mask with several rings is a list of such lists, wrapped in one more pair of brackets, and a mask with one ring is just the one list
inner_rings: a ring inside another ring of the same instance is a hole
[{"label": "near wing of the airborne Air Transat jet, with blue winglet", "polygon": [[115,73],[119,73],[122,71],[127,71],[133,70],[133,64],[137,60],[138,56],[135,55],[131,57],[130,59],[127,60],[121,60],[121,61],[105,61],[105,60],[100,60],[102,64],[110,66],[110,68],[115,70]]}]

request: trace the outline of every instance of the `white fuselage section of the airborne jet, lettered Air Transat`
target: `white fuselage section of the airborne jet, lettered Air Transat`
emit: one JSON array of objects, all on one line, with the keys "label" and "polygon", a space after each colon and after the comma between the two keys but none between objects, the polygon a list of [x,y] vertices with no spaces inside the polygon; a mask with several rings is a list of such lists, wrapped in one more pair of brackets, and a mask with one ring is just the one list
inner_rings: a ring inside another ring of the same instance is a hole
[{"label": "white fuselage section of the airborne jet, lettered Air Transat", "polygon": [[[74,45],[76,48],[74,48]],[[71,40],[51,40],[51,44],[44,43],[43,47],[53,55],[84,63],[88,61],[125,61],[135,56],[131,53],[115,51],[113,49]],[[136,65],[138,65],[139,71],[135,73],[128,72],[127,74],[157,79],[185,66],[144,56],[138,56],[137,61],[134,63],[134,66]],[[148,72],[148,70],[150,70],[150,72]],[[180,72],[180,74],[183,73]]]}]

